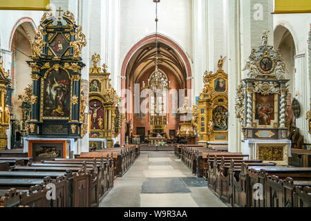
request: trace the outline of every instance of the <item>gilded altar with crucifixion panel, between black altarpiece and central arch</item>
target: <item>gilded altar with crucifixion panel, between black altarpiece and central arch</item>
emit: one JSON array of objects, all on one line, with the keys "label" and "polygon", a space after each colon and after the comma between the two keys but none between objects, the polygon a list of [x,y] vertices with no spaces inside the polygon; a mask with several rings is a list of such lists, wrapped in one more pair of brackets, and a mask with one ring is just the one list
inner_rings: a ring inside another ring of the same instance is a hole
[{"label": "gilded altar with crucifixion panel, between black altarpiece and central arch", "polygon": [[93,55],[93,67],[89,70],[89,102],[91,114],[89,119],[89,131],[91,138],[106,139],[107,147],[113,146],[113,137],[121,133],[124,122],[124,114],[120,106],[120,97],[111,86],[110,73],[107,66],[97,66],[100,55]]}]

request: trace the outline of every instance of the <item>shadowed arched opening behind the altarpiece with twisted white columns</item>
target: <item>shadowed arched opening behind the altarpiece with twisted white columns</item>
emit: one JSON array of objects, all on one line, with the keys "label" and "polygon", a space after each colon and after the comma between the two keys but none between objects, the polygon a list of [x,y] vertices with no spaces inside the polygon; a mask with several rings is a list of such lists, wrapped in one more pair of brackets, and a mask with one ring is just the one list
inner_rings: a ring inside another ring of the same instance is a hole
[{"label": "shadowed arched opening behind the altarpiece with twisted white columns", "polygon": [[288,117],[290,122],[295,124],[292,114],[291,102],[295,93],[295,64],[296,46],[292,33],[284,26],[276,26],[274,30],[274,48],[279,49],[288,69],[285,73],[285,79],[290,79],[288,87]]}]

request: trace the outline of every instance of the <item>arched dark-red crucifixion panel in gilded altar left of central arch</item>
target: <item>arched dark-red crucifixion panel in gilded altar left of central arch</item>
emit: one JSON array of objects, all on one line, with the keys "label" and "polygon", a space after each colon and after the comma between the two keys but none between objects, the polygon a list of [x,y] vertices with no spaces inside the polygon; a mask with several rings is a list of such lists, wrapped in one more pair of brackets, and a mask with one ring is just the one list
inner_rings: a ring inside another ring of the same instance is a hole
[{"label": "arched dark-red crucifixion panel in gilded altar left of central arch", "polygon": [[89,110],[91,113],[91,129],[104,129],[104,106],[98,99],[92,99],[89,102]]}]

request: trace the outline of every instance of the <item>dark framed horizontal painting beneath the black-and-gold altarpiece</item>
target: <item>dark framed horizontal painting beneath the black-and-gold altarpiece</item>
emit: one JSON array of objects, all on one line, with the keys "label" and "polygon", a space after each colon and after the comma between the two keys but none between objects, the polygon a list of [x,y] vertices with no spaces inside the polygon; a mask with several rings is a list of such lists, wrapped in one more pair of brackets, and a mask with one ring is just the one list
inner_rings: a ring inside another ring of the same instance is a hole
[{"label": "dark framed horizontal painting beneath the black-and-gold altarpiece", "polygon": [[66,158],[66,141],[29,141],[28,155],[37,162]]}]

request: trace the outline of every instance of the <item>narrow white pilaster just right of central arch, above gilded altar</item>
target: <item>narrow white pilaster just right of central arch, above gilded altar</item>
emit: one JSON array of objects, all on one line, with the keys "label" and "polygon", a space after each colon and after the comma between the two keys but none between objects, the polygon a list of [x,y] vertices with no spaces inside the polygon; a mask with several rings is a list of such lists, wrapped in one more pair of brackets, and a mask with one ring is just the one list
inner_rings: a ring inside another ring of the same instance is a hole
[{"label": "narrow white pilaster just right of central arch, above gilded altar", "polygon": [[[192,26],[193,26],[193,45],[194,45],[194,64],[192,75],[194,76],[194,96],[202,92],[204,86],[202,79],[205,70],[208,68],[208,46],[207,46],[207,1],[192,1]],[[193,101],[195,101],[193,97]]]}]

